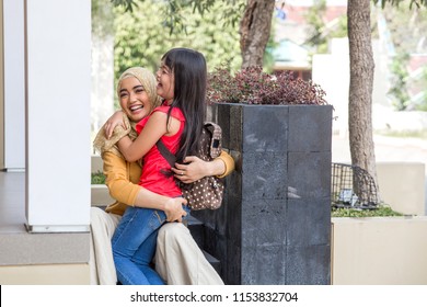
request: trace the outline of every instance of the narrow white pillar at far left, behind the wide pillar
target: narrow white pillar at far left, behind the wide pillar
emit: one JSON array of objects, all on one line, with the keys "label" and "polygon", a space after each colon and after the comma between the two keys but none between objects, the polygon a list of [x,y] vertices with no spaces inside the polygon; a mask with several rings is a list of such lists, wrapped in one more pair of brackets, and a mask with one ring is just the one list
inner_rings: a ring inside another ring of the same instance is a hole
[{"label": "narrow white pillar at far left, behind the wide pillar", "polygon": [[3,168],[25,168],[24,1],[3,0]]}]

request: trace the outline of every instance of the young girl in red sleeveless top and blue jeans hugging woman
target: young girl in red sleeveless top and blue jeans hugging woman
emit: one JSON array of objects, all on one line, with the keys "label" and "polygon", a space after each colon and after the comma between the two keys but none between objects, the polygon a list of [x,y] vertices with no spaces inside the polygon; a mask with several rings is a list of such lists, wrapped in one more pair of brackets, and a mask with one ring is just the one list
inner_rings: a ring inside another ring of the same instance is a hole
[{"label": "young girl in red sleeveless top and blue jeans hugging woman", "polygon": [[[170,175],[171,167],[159,152],[155,143],[161,138],[177,157],[177,161],[197,152],[205,118],[206,73],[205,57],[198,52],[174,48],[162,57],[157,72],[157,93],[163,98],[163,104],[137,124],[139,135],[135,141],[128,137],[118,141],[126,160],[142,158],[141,186],[161,195],[181,196],[181,190],[173,175]],[[132,84],[123,83],[123,87],[131,88]],[[183,208],[188,212],[185,205]],[[165,219],[162,211],[138,207],[126,209],[112,239],[120,283],[163,284],[150,268],[150,262],[155,250],[158,229]]]}]

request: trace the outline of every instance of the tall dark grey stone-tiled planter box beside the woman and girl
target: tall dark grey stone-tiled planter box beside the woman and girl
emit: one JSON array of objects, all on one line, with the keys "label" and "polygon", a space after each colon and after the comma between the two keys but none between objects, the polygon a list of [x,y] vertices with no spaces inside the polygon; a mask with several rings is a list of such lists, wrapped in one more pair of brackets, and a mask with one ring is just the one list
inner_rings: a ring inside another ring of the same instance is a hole
[{"label": "tall dark grey stone-tiled planter box beside the woman and girl", "polygon": [[238,158],[223,205],[195,212],[226,284],[330,284],[332,106],[216,104]]}]

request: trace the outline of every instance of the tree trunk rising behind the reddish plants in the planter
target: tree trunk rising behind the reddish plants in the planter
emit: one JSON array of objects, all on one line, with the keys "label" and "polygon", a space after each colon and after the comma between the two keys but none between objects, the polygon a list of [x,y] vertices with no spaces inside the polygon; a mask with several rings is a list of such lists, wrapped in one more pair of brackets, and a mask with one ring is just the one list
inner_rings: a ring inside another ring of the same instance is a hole
[{"label": "tree trunk rising behind the reddish plants in the planter", "polygon": [[263,66],[274,9],[274,0],[247,0],[239,31],[242,68]]}]

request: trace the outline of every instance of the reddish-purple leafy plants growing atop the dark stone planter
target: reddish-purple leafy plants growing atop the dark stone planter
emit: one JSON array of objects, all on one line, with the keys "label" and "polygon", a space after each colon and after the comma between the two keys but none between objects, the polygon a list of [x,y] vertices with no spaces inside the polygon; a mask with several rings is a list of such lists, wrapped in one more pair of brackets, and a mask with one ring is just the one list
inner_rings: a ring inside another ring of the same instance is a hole
[{"label": "reddish-purple leafy plants growing atop the dark stone planter", "polygon": [[261,67],[250,67],[232,76],[221,67],[208,75],[208,103],[325,105],[324,96],[320,86],[293,78],[290,71],[266,73]]}]

